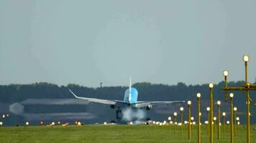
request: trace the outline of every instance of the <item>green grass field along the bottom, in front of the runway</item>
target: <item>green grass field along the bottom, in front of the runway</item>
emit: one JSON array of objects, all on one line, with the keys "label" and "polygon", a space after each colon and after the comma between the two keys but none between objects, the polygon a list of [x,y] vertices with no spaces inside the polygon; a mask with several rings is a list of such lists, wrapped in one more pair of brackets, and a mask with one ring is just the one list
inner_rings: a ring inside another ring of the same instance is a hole
[{"label": "green grass field along the bottom, in front of the runway", "polygon": [[[252,128],[255,126],[252,126]],[[222,128],[221,128],[222,129]],[[128,126],[128,125],[88,125],[83,127],[0,127],[0,142],[197,142],[196,126],[192,130],[192,138],[188,140],[187,127],[176,131],[168,126]],[[217,131],[217,129],[216,129]],[[221,139],[214,142],[229,142],[229,128]],[[235,142],[246,142],[244,126],[237,127]],[[207,127],[202,126],[202,142],[209,142]],[[251,131],[251,142],[256,142],[256,131]]]}]

